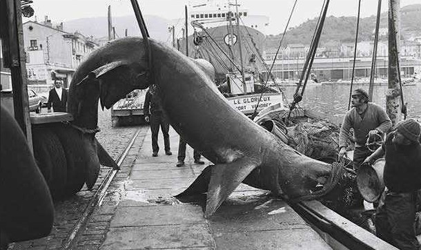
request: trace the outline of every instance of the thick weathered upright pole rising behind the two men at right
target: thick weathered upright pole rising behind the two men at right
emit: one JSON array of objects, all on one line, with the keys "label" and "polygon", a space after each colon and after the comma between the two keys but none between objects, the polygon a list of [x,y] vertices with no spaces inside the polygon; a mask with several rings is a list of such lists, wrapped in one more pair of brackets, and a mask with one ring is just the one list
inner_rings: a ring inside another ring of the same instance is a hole
[{"label": "thick weathered upright pole rising behind the two men at right", "polygon": [[386,113],[396,124],[402,119],[400,115],[401,89],[399,83],[400,71],[398,68],[400,51],[400,0],[389,0],[389,68],[388,87],[386,94]]}]

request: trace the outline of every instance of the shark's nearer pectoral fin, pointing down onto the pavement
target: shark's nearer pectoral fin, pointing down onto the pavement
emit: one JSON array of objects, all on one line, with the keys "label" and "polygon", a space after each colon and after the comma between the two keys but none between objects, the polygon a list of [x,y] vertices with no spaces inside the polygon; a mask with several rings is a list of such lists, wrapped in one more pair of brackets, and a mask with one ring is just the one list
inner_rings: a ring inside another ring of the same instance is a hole
[{"label": "shark's nearer pectoral fin, pointing down onto the pavement", "polygon": [[233,193],[259,164],[251,157],[242,157],[228,164],[215,165],[208,186],[205,217],[213,215],[228,195]]}]

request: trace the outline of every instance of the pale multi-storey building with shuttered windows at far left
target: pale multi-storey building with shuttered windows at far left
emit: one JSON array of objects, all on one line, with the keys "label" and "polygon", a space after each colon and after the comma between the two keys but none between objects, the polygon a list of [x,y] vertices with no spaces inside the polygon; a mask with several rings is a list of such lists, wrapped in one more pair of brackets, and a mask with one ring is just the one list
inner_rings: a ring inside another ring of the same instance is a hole
[{"label": "pale multi-storey building with shuttered windows at far left", "polygon": [[28,84],[52,84],[56,77],[66,88],[77,66],[98,46],[92,38],[64,31],[63,23],[53,26],[48,17],[23,23],[23,40]]}]

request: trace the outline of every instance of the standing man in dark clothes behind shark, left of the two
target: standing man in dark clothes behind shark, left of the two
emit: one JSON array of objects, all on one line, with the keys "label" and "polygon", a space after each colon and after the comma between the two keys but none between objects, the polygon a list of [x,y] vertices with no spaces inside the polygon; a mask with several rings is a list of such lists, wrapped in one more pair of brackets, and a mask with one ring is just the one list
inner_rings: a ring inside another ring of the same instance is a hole
[{"label": "standing man in dark clothes behind shark, left of the two", "polygon": [[157,86],[154,84],[149,87],[148,92],[146,92],[145,103],[144,103],[144,115],[145,121],[150,122],[150,132],[152,132],[152,156],[158,156],[159,146],[158,146],[158,132],[159,126],[161,126],[162,134],[164,135],[164,147],[165,154],[172,155],[170,151],[170,135],[168,131],[170,129],[170,124],[168,119],[162,110],[161,100],[157,93]]}]

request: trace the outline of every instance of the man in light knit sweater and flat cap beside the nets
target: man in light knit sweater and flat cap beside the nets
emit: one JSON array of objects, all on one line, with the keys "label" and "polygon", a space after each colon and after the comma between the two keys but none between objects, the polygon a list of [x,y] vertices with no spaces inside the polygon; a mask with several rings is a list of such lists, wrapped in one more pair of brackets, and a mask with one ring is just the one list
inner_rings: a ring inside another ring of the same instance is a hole
[{"label": "man in light knit sweater and flat cap beside the nets", "polygon": [[346,155],[346,140],[351,128],[354,131],[355,151],[353,156],[353,168],[360,168],[364,159],[371,154],[366,148],[367,137],[375,134],[386,134],[392,127],[391,119],[386,112],[373,102],[369,102],[369,95],[362,88],[353,90],[351,95],[351,108],[345,115],[339,134],[339,156]]}]

